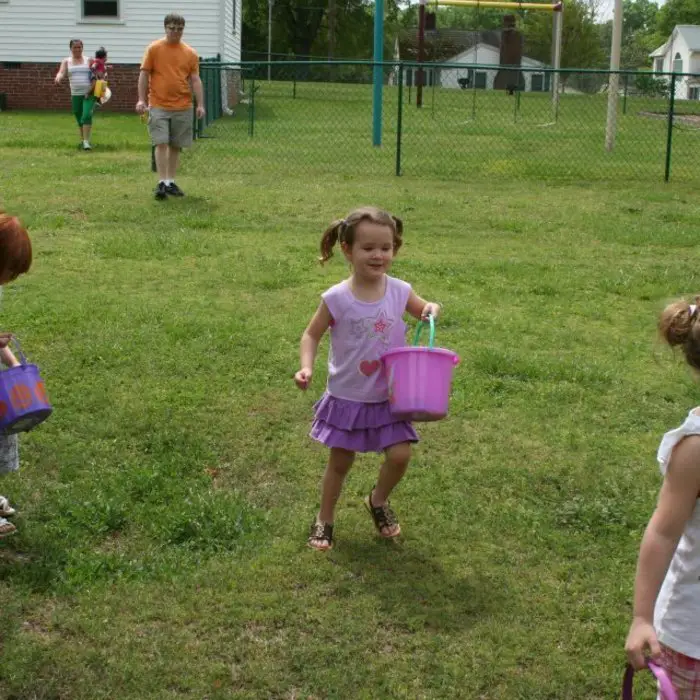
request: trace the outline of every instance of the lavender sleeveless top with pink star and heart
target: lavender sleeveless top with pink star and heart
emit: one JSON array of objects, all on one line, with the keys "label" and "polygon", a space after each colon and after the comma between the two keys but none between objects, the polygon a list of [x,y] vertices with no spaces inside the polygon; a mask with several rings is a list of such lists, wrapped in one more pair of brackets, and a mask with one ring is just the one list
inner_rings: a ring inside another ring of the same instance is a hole
[{"label": "lavender sleeveless top with pink star and heart", "polygon": [[356,299],[347,280],[321,295],[332,316],[327,386],[331,396],[363,403],[389,398],[379,358],[406,345],[403,314],[410,294],[410,284],[387,275],[379,301]]}]

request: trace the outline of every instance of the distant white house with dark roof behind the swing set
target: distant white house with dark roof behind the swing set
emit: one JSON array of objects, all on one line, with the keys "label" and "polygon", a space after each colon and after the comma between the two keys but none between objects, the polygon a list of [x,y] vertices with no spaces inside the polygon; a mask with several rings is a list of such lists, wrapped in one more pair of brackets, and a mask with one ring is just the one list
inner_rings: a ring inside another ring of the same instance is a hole
[{"label": "distant white house with dark roof behind the swing set", "polygon": [[[434,68],[427,65],[425,85],[439,85],[445,88],[476,88],[492,90],[498,69],[469,68],[468,66],[497,66],[500,62],[500,30],[482,32],[466,32],[461,30],[441,30],[426,33],[425,61],[426,63],[464,64],[465,68],[454,66],[449,68]],[[418,58],[417,39],[404,35],[397,41],[399,56],[402,60],[415,61]],[[395,54],[397,51],[395,51]],[[534,58],[523,56],[521,66],[528,69],[546,68],[547,65]],[[417,67],[404,69],[406,85],[415,85]],[[521,90],[528,92],[548,92],[550,89],[550,74],[527,70],[521,73]]]}]

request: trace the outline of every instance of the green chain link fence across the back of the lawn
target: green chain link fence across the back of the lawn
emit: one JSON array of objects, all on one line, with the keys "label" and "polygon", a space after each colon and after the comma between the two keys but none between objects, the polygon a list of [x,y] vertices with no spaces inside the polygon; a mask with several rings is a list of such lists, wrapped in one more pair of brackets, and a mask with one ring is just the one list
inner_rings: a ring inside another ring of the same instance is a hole
[{"label": "green chain link fence across the back of the lawn", "polygon": [[377,65],[381,110],[370,61],[204,63],[216,118],[190,157],[242,173],[700,184],[700,75]]}]

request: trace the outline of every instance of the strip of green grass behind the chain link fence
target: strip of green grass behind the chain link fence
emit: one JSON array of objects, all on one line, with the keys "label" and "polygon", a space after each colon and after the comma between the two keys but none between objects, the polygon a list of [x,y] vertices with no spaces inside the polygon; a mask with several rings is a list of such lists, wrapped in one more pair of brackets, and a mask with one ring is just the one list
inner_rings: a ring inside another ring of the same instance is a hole
[{"label": "strip of green grass behind the chain link fence", "polygon": [[[250,172],[265,167],[353,176],[395,172],[397,87],[384,88],[381,149],[372,145],[370,84],[249,80],[246,91],[255,93],[254,115],[250,104],[242,104],[234,117],[209,128],[212,138],[203,147],[209,162],[232,161]],[[662,183],[667,100],[628,97],[625,102],[621,97],[615,147],[607,152],[607,99],[606,94],[565,94],[555,116],[550,96],[543,93],[515,97],[425,88],[423,107],[417,109],[415,88],[404,88],[401,172],[469,182],[480,178],[494,185],[504,180]],[[676,111],[685,120],[678,119],[673,130],[671,178],[698,183],[698,103],[678,101]],[[689,112],[694,120],[687,119]]]}]

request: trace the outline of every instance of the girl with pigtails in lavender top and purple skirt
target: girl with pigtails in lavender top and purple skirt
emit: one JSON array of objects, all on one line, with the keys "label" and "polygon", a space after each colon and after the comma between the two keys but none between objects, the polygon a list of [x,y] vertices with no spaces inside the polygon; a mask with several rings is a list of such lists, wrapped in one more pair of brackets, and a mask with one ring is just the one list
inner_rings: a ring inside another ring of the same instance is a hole
[{"label": "girl with pigtails in lavender top and purple skirt", "polygon": [[352,211],[333,222],[321,239],[321,263],[340,244],[352,274],[321,295],[321,303],[301,338],[297,386],[311,383],[323,334],[330,329],[328,385],[315,405],[311,437],[330,448],[321,486],[321,508],[311,525],[313,549],[333,546],[335,504],[357,452],[384,452],[384,463],[365,505],[381,537],[401,532],[389,494],[401,481],[418,441],[413,426],[389,410],[388,385],[380,357],[406,344],[404,312],[437,318],[440,307],[421,299],[407,282],[387,273],[402,243],[403,224],[375,207]]}]

